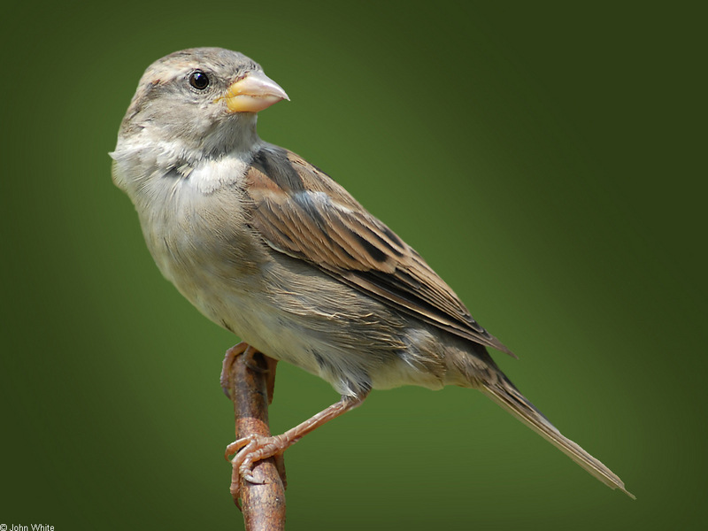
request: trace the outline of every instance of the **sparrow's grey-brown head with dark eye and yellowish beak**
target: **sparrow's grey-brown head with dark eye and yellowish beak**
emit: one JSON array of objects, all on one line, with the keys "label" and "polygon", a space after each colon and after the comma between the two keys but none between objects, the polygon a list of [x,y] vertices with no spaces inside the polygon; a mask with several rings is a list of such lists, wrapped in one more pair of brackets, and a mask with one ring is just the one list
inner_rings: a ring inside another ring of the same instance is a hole
[{"label": "sparrow's grey-brown head with dark eye and yellowish beak", "polygon": [[142,75],[120,142],[173,144],[200,157],[246,149],[258,139],[257,112],[289,99],[258,63],[221,48],[181,50]]}]

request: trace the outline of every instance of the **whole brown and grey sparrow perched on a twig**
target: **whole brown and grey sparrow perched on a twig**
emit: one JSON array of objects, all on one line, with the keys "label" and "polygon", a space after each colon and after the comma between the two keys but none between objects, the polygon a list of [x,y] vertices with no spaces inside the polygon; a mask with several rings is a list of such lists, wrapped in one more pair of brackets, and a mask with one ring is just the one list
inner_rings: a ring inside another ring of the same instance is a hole
[{"label": "whole brown and grey sparrow perched on a twig", "polygon": [[[554,427],[489,354],[515,357],[395,232],[317,166],[262,140],[258,112],[289,100],[221,48],[150,65],[119,127],[112,180],[160,272],[208,319],[329,382],[341,400],[275,437],[228,445],[247,481],[372,389],[478,389],[612,489],[620,478]],[[372,168],[375,172],[375,168]]]}]

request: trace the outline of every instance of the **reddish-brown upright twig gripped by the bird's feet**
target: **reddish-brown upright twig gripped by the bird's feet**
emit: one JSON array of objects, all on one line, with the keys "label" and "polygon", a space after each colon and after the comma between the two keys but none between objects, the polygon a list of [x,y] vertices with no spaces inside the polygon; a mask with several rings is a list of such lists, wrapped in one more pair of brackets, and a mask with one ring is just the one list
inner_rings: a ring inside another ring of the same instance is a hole
[{"label": "reddish-brown upright twig gripped by the bird's feet", "polygon": [[[249,347],[234,358],[230,369],[228,390],[234,401],[236,439],[248,435],[270,436],[268,403],[272,396],[275,363],[268,363],[260,352]],[[270,373],[269,378],[269,370]],[[280,466],[280,470],[279,470]],[[275,531],[285,528],[285,494],[281,473],[282,461],[267,458],[253,466],[253,477],[261,483],[251,483],[240,477],[237,467],[231,475],[231,495],[238,505],[242,500],[246,531]]]}]

